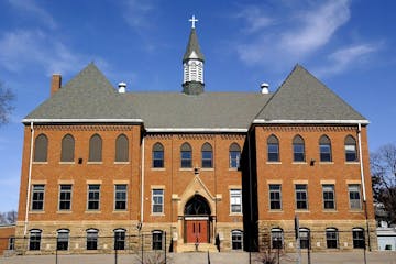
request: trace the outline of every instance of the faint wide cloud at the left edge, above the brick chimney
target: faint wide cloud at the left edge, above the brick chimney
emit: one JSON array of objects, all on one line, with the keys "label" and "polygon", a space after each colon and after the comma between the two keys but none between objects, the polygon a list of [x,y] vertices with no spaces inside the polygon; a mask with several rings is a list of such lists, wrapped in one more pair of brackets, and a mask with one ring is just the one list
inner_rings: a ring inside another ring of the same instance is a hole
[{"label": "faint wide cloud at the left edge, above the brick chimney", "polygon": [[0,67],[10,72],[40,66],[48,75],[67,74],[90,59],[40,30],[18,30],[0,36]]}]

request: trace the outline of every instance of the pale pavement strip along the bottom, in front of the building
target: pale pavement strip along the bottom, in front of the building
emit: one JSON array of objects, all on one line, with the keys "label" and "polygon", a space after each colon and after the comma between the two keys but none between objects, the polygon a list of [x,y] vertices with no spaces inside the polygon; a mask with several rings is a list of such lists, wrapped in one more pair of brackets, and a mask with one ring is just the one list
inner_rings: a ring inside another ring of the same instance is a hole
[{"label": "pale pavement strip along the bottom, in front of the building", "polygon": [[[251,263],[257,264],[256,254],[251,255]],[[246,252],[210,253],[210,264],[249,264]],[[168,264],[207,264],[208,253],[168,254]],[[116,264],[116,256],[109,254],[58,255],[57,264]],[[118,255],[117,264],[138,264],[138,255]],[[296,263],[296,255],[280,256],[280,264]],[[302,264],[307,264],[307,255],[302,255]],[[367,264],[396,264],[396,252],[367,252]],[[0,257],[0,264],[56,264],[55,255]],[[364,264],[363,252],[312,253],[311,264]]]}]

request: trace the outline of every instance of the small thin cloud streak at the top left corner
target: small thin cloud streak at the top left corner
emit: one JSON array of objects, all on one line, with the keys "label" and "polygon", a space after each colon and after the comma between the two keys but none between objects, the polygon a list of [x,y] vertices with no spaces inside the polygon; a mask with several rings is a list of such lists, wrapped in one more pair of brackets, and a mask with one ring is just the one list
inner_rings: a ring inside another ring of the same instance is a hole
[{"label": "small thin cloud streak at the top left corner", "polygon": [[51,29],[57,28],[54,18],[46,10],[38,7],[34,0],[9,0],[9,3],[24,15],[31,15],[34,19],[41,20],[43,24]]}]

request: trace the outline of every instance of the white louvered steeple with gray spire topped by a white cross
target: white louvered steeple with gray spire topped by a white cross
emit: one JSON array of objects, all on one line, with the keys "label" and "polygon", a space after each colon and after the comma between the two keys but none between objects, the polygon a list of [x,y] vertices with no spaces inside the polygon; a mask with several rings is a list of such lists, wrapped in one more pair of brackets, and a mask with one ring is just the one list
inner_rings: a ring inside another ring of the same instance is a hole
[{"label": "white louvered steeple with gray spire topped by a white cross", "polygon": [[189,35],[186,53],[183,56],[183,92],[186,95],[199,95],[204,92],[204,54],[200,52],[198,37],[195,29],[198,20],[193,15],[191,32]]}]

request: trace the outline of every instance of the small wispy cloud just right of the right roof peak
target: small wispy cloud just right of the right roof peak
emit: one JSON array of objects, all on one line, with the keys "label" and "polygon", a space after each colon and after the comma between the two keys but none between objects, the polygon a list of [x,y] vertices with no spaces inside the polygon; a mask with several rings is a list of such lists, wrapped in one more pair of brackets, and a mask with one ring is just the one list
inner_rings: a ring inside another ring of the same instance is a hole
[{"label": "small wispy cloud just right of the right roof peak", "polygon": [[316,70],[318,76],[339,74],[345,69],[358,65],[370,54],[377,52],[381,44],[358,44],[349,47],[342,47],[328,56],[329,63],[324,67]]}]

